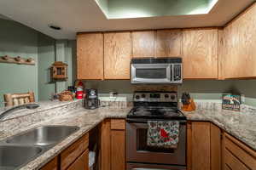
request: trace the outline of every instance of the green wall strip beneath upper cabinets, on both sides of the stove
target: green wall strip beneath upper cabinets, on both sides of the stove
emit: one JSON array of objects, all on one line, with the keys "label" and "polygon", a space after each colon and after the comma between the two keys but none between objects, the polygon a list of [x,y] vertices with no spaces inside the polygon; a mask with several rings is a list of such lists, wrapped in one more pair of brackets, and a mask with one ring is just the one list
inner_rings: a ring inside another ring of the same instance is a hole
[{"label": "green wall strip beneath upper cabinets, on both sides of the stove", "polygon": [[[119,94],[132,95],[130,81],[85,81],[86,88],[97,88],[100,94],[117,91]],[[245,104],[256,106],[256,80],[185,80],[178,86],[178,94],[189,92],[194,99],[221,101],[223,93],[244,94]]]}]

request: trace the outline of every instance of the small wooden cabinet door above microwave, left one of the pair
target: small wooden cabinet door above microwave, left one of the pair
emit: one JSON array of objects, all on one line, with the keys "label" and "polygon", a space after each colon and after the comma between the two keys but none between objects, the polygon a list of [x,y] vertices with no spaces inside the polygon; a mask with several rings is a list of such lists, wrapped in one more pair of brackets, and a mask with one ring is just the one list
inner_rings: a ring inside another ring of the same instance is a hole
[{"label": "small wooden cabinet door above microwave, left one of the pair", "polygon": [[132,58],[154,57],[154,31],[133,31]]}]

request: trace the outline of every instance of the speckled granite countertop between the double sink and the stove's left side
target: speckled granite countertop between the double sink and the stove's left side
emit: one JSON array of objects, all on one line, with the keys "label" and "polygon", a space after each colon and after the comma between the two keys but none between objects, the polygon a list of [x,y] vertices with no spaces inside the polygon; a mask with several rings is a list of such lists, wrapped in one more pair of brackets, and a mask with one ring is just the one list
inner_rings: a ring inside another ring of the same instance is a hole
[{"label": "speckled granite countertop between the double sink and the stove's left side", "polygon": [[88,133],[90,129],[96,127],[105,118],[125,118],[130,109],[131,108],[109,109],[106,107],[88,111],[81,108],[77,111],[69,112],[65,116],[55,117],[48,122],[41,122],[33,125],[33,127],[44,125],[78,126],[79,131],[71,134],[67,139],[62,140],[61,143],[56,144],[42,156],[38,156],[38,158],[28,163],[25,167],[20,168],[20,170],[33,170],[43,167],[45,163],[60,154],[62,150],[65,150],[70,144],[73,144],[74,141],[82,137],[85,133]]}]

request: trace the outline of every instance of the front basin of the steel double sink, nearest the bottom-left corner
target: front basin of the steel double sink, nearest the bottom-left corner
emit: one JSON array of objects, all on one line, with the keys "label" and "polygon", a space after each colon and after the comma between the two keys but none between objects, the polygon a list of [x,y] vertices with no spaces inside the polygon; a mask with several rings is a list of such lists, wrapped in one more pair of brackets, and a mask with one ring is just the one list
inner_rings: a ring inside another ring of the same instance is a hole
[{"label": "front basin of the steel double sink, nearest the bottom-left corner", "polygon": [[32,160],[43,151],[38,146],[0,146],[0,169],[12,170]]}]

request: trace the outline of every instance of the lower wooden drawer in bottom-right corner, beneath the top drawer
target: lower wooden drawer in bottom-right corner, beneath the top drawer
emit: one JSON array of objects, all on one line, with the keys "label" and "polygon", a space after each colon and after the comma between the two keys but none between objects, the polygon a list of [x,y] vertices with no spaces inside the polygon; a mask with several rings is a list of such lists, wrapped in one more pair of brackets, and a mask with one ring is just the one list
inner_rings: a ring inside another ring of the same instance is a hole
[{"label": "lower wooden drawer in bottom-right corner, beneath the top drawer", "polygon": [[233,156],[229,150],[224,150],[225,166],[232,170],[249,170],[241,161]]}]

